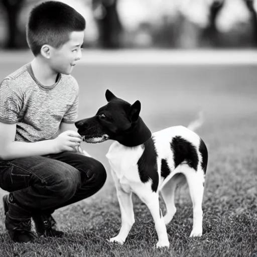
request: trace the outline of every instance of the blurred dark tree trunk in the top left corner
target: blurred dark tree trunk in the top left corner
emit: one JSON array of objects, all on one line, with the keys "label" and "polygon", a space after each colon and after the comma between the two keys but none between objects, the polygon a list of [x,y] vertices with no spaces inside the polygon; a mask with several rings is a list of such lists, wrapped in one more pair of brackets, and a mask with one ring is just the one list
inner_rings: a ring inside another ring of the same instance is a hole
[{"label": "blurred dark tree trunk in the top left corner", "polygon": [[8,40],[6,47],[10,49],[18,48],[17,35],[18,30],[18,17],[20,10],[24,4],[24,0],[0,0],[0,3],[5,7],[8,18]]}]

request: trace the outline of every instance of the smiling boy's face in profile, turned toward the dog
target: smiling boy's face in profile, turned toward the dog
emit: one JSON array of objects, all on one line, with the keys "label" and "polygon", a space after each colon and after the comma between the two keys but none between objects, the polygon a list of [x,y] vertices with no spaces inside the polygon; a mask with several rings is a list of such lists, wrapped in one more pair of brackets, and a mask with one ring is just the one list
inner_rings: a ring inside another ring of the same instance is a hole
[{"label": "smiling boy's face in profile, turned toward the dog", "polygon": [[70,39],[58,49],[51,49],[50,65],[58,72],[69,75],[77,61],[81,58],[81,45],[84,40],[84,31],[74,31],[70,34]]}]

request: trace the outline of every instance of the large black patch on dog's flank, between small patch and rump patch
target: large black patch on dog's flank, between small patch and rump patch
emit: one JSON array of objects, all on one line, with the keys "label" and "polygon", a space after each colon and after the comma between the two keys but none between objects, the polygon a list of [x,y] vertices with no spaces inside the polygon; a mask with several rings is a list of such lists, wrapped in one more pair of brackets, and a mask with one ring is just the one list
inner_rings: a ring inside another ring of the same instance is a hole
[{"label": "large black patch on dog's flank, between small patch and rump patch", "polygon": [[175,168],[180,165],[182,162],[187,162],[188,166],[197,171],[198,166],[198,156],[196,148],[192,143],[183,139],[180,136],[177,136],[172,139],[171,150],[174,154],[174,164]]}]

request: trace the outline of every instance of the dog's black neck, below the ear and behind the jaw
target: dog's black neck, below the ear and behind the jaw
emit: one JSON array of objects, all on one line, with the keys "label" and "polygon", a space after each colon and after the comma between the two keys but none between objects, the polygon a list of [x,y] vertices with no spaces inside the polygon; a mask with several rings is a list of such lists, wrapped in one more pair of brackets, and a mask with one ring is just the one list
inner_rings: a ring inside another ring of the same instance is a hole
[{"label": "dog's black neck, below the ear and behind the jaw", "polygon": [[144,144],[151,137],[151,131],[148,129],[148,126],[145,124],[142,118],[139,117],[137,122],[133,124],[130,130],[115,140],[123,146],[136,147]]}]

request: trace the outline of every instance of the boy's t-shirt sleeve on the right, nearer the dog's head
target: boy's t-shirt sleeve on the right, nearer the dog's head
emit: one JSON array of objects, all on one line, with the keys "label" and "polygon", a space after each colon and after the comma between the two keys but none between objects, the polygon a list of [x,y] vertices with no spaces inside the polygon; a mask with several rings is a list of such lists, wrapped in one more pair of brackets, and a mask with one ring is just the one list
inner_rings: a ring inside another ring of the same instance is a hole
[{"label": "boy's t-shirt sleeve on the right, nearer the dog's head", "polygon": [[62,122],[66,123],[74,123],[77,121],[78,118],[78,83],[77,81],[73,78],[73,88],[71,91],[71,96],[72,96],[72,102],[69,105],[65,115],[62,118]]}]

